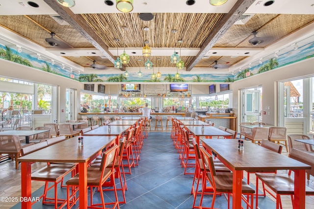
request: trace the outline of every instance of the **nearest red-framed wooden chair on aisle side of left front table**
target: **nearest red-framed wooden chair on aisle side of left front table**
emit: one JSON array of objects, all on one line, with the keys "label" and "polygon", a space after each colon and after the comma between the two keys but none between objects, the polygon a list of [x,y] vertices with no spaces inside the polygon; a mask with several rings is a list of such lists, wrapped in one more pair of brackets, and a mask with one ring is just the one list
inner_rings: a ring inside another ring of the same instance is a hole
[{"label": "nearest red-framed wooden chair on aisle side of left front table", "polygon": [[[103,208],[105,209],[105,205],[113,205],[112,208],[119,208],[119,201],[118,201],[118,195],[115,185],[115,178],[114,178],[114,166],[111,166],[110,168],[107,168],[110,164],[113,164],[116,161],[117,155],[118,155],[118,145],[114,145],[109,150],[105,151],[102,158],[102,163],[99,169],[93,168],[93,167],[87,167],[87,186],[90,187],[90,207],[93,208]],[[68,208],[71,208],[73,204],[75,204],[78,199],[75,199],[74,203],[70,205],[70,200],[75,197],[75,194],[70,195],[70,187],[78,187],[79,184],[79,178],[78,175],[75,175],[71,179],[69,179],[66,182],[67,185],[67,205]],[[105,203],[104,193],[103,193],[103,184],[105,181],[107,181],[110,178],[110,181],[112,181],[113,184],[113,190],[114,190],[114,196],[115,201],[112,203]],[[96,190],[93,191],[93,188],[95,187]],[[102,203],[101,204],[93,204],[93,194],[96,191],[100,191],[100,196]]]}]

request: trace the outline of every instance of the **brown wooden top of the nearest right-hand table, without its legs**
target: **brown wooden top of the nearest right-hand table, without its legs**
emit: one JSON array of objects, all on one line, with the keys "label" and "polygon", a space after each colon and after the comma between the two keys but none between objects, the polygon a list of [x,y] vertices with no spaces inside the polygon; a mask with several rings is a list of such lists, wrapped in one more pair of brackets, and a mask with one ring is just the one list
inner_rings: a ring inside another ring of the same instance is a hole
[{"label": "brown wooden top of the nearest right-hand table, without its legs", "polygon": [[236,139],[201,139],[201,141],[204,147],[214,152],[217,158],[227,163],[227,166],[232,170],[311,169],[310,165],[288,158],[250,141],[243,141],[243,151],[237,149]]}]

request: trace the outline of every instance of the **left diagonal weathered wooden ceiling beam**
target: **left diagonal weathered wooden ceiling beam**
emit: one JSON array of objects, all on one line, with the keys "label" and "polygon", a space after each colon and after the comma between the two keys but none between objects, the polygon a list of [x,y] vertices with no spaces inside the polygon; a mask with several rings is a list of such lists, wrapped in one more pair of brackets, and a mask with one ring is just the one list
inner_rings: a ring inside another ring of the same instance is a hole
[{"label": "left diagonal weathered wooden ceiling beam", "polygon": [[[105,57],[114,62],[113,55],[110,53],[108,46],[99,37],[99,35],[90,27],[84,19],[78,15],[74,14],[71,9],[61,6],[55,0],[44,0],[56,13],[58,13],[67,23],[73,26],[84,38],[87,39],[93,46],[95,46],[100,52],[102,52]],[[126,67],[122,65],[120,70],[125,71]]]}]

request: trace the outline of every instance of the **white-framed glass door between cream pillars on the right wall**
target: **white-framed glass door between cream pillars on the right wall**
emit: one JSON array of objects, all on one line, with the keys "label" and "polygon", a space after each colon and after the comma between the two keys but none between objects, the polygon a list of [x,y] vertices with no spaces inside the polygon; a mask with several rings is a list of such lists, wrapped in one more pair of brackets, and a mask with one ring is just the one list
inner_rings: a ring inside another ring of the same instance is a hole
[{"label": "white-framed glass door between cream pillars on the right wall", "polygon": [[241,96],[241,122],[261,121],[261,91],[242,90]]}]

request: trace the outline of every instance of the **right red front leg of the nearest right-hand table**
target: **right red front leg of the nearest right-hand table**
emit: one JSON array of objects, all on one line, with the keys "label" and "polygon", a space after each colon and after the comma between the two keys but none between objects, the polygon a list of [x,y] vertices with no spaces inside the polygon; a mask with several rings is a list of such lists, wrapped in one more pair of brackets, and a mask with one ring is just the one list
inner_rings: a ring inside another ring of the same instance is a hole
[{"label": "right red front leg of the nearest right-hand table", "polygon": [[305,209],[305,170],[294,170],[293,208]]}]

